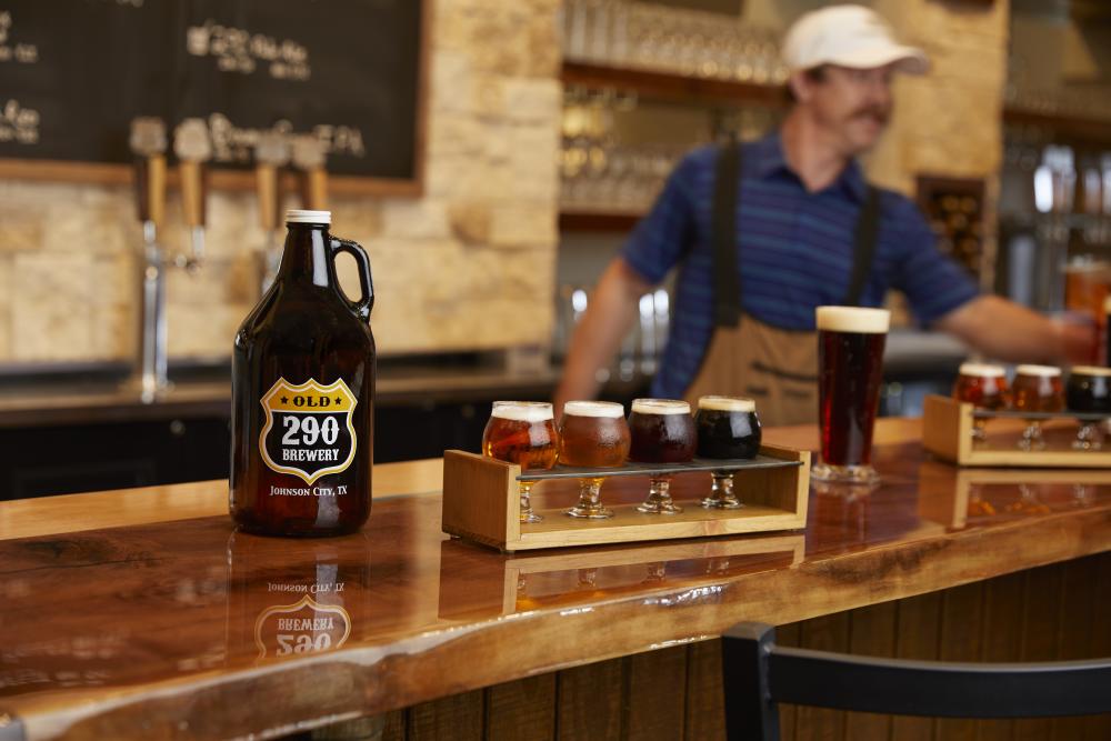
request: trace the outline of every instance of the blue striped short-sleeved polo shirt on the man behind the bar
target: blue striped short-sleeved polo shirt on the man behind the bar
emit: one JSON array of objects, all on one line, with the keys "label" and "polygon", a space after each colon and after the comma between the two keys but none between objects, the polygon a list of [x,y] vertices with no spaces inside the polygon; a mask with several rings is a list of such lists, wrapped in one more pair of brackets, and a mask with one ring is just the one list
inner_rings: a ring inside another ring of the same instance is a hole
[{"label": "blue striped short-sleeved polo shirt on the man behind the bar", "polygon": [[[657,397],[683,394],[713,334],[710,224],[718,151],[703,147],[683,158],[621,252],[650,283],[681,266],[671,333],[652,382]],[[857,217],[868,192],[860,167],[850,162],[832,184],[808,192],[773,133],[743,146],[740,178],[742,307],[773,327],[813,330],[814,307],[842,303],[849,291]],[[862,306],[882,306],[893,288],[927,326],[978,296],[968,273],[938,251],[937,237],[909,199],[881,190],[880,213]]]}]

